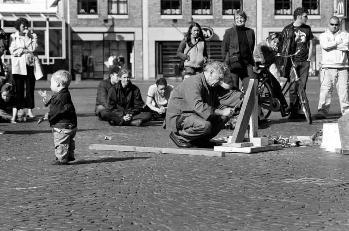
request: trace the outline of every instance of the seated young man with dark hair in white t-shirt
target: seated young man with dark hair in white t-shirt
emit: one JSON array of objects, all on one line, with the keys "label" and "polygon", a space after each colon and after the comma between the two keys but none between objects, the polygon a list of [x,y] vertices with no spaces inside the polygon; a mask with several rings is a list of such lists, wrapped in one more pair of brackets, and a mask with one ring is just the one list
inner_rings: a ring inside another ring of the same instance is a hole
[{"label": "seated young man with dark hair in white t-shirt", "polygon": [[169,101],[173,86],[167,84],[165,78],[156,80],[156,83],[148,89],[147,102],[144,111],[151,112],[153,119],[165,118],[167,103]]}]

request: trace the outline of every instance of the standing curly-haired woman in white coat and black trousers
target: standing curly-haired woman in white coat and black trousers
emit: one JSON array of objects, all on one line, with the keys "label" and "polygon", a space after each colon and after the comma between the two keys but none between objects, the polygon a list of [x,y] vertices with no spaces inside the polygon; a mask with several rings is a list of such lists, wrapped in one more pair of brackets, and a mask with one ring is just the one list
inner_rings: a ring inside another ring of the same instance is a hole
[{"label": "standing curly-haired woman in white coat and black trousers", "polygon": [[[18,18],[14,26],[17,32],[10,35],[12,75],[15,81],[17,109],[28,108],[28,116],[34,118],[34,51],[37,48],[37,35],[28,30],[26,18]],[[24,95],[25,86],[25,95]]]}]

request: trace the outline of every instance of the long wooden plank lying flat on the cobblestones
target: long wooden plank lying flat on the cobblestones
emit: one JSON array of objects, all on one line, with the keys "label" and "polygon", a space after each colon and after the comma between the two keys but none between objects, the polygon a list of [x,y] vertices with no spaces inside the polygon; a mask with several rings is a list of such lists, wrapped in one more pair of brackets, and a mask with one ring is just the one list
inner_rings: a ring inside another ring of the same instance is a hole
[{"label": "long wooden plank lying flat on the cobblestones", "polygon": [[150,152],[150,153],[166,153],[166,154],[184,154],[196,156],[212,156],[224,157],[224,152],[214,150],[200,149],[176,149],[176,148],[155,148],[141,146],[126,146],[126,145],[111,145],[111,144],[91,144],[89,149],[92,150],[107,150],[107,151],[122,151],[122,152]]}]

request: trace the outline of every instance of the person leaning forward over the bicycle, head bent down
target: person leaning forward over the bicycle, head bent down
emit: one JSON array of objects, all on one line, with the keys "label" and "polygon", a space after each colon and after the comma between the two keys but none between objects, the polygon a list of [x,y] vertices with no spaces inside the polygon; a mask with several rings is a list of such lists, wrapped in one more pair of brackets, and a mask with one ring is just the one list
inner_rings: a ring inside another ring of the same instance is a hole
[{"label": "person leaning forward over the bicycle, head bent down", "polygon": [[287,112],[288,104],[285,99],[285,97],[282,94],[281,89],[281,76],[279,68],[275,65],[275,55],[277,47],[279,46],[281,42],[281,34],[280,33],[272,33],[269,35],[269,37],[258,43],[256,49],[253,52],[254,61],[256,62],[256,65],[260,64],[268,64],[269,66],[269,72],[271,75],[270,77],[270,84],[273,87],[275,97],[279,99],[280,101],[280,112],[281,116],[289,116],[290,113]]}]

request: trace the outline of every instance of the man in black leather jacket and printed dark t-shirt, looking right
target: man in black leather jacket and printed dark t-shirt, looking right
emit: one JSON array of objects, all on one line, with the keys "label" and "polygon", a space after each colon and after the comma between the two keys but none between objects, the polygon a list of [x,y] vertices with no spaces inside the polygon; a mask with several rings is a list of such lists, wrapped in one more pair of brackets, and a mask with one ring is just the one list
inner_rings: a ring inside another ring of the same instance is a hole
[{"label": "man in black leather jacket and printed dark t-shirt, looking right", "polygon": [[[282,30],[282,45],[279,47],[279,52],[282,54],[294,54],[298,49],[300,52],[294,57],[296,71],[299,78],[302,80],[304,89],[308,80],[309,62],[312,56],[313,44],[310,40],[313,39],[313,34],[310,26],[305,25],[307,22],[307,10],[304,7],[298,7],[293,13],[294,22],[287,25]],[[277,64],[280,66],[280,74],[282,77],[290,78],[290,82],[294,80],[295,73],[291,72],[290,58],[279,58]],[[299,99],[297,95],[296,85],[293,84],[289,90],[291,113],[289,119],[305,118],[304,114],[299,113]]]}]

